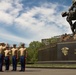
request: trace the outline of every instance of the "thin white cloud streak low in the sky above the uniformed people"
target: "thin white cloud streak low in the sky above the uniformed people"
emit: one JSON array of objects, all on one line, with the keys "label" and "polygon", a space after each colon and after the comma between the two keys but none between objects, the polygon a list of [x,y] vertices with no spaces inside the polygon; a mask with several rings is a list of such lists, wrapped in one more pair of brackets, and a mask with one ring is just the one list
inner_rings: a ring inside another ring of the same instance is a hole
[{"label": "thin white cloud streak low in the sky above the uniformed people", "polygon": [[11,42],[16,42],[16,43],[21,43],[21,42],[25,43],[25,44],[30,43],[30,40],[15,36],[3,28],[0,28],[0,39],[5,39],[5,40],[11,41]]}]

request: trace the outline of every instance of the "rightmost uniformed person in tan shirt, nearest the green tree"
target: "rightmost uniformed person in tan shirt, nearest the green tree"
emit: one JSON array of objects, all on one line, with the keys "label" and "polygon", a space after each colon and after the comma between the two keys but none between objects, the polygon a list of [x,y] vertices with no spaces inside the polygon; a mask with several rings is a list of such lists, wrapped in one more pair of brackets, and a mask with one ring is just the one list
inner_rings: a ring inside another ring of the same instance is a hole
[{"label": "rightmost uniformed person in tan shirt, nearest the green tree", "polygon": [[20,71],[24,72],[25,71],[25,60],[27,57],[27,51],[25,48],[25,44],[21,45],[21,48],[19,49],[19,51],[20,51],[20,63],[21,63],[21,70]]}]

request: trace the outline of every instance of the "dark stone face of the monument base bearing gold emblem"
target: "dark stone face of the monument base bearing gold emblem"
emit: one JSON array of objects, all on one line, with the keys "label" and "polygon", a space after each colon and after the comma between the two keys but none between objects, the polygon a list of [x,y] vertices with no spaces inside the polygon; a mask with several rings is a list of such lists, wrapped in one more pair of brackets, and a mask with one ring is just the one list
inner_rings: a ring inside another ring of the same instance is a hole
[{"label": "dark stone face of the monument base bearing gold emblem", "polygon": [[76,41],[58,43],[57,60],[76,60]]}]

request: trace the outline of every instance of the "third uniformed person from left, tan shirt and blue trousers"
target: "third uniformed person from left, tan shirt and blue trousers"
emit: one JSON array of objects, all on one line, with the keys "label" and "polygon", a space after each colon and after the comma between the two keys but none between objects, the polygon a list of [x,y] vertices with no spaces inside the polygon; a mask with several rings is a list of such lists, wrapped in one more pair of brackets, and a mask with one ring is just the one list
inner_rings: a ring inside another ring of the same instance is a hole
[{"label": "third uniformed person from left, tan shirt and blue trousers", "polygon": [[11,49],[12,52],[12,71],[17,70],[17,59],[18,59],[18,49],[16,48],[16,44],[13,44],[13,48]]}]

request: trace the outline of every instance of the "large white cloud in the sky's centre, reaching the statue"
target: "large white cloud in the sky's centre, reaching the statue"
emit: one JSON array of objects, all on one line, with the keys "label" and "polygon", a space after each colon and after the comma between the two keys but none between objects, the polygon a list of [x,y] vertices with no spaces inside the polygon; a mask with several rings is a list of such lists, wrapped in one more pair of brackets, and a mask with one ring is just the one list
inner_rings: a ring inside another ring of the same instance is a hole
[{"label": "large white cloud in the sky's centre, reaching the statue", "polygon": [[[57,11],[58,7],[64,8],[65,6],[45,3],[40,7],[33,7],[16,18],[15,22],[23,30],[29,29],[38,38],[51,37],[66,31],[69,32],[69,24],[65,21],[65,18],[61,17],[61,11]],[[37,38],[36,36],[35,38]]]}]

